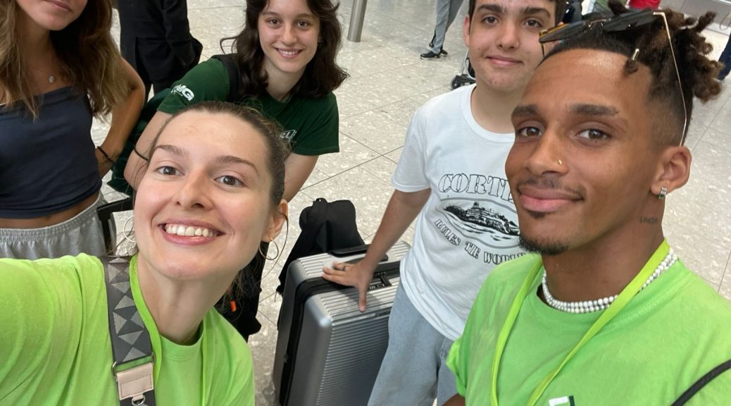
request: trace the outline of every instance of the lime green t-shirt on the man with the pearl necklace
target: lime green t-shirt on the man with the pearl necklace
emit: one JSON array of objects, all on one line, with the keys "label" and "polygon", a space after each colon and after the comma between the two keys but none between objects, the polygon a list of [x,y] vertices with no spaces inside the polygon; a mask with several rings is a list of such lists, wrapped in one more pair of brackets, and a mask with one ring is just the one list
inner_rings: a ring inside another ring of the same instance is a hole
[{"label": "lime green t-shirt on the man with the pearl necklace", "polygon": [[[496,342],[513,298],[537,261],[495,268],[482,285],[447,364],[467,405],[491,405]],[[507,340],[497,382],[500,405],[526,405],[601,312],[549,307],[533,281]],[[671,405],[698,378],[731,358],[731,303],[678,260],[575,353],[536,405]],[[688,405],[731,405],[731,371]]]}]

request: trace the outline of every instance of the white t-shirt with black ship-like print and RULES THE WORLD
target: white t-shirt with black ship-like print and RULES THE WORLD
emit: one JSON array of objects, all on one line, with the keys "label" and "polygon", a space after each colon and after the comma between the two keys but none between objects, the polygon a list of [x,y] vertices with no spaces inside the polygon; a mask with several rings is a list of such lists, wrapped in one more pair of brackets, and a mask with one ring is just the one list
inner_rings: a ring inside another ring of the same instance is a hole
[{"label": "white t-shirt with black ship-like print and RULES THE WORLD", "polygon": [[402,192],[431,188],[401,262],[401,284],[414,307],[452,340],[462,334],[490,271],[523,254],[504,169],[515,134],[477,124],[473,89],[442,94],[417,110],[391,179]]}]

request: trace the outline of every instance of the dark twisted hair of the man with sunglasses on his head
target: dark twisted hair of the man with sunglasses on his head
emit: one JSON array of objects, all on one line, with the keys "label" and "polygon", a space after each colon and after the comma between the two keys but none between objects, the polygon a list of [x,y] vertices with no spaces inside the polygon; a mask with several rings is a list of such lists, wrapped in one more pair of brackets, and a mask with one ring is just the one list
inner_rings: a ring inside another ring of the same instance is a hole
[{"label": "dark twisted hair of the man with sunglasses on his head", "polygon": [[[609,7],[614,15],[630,11],[618,0],[610,0]],[[681,12],[669,9],[660,11],[665,13],[667,26],[670,28],[690,124],[693,96],[702,102],[707,102],[721,92],[721,84],[715,80],[721,64],[708,59],[707,55],[713,47],[701,35],[703,29],[713,22],[715,15],[713,12],[707,12],[700,18],[686,18]],[[667,31],[662,18],[618,32],[606,32],[602,30],[600,24],[594,24],[583,34],[563,40],[546,55],[545,59],[571,49],[607,50],[624,55],[627,57],[624,65],[626,75],[637,72],[637,63],[648,67],[652,75],[648,102],[655,103],[659,107],[653,114],[656,124],[654,126],[656,146],[662,148],[681,142],[685,119],[683,98],[678,89],[678,75],[675,73],[673,54],[667,44]],[[635,50],[639,50],[639,53],[633,60],[631,56]]]}]

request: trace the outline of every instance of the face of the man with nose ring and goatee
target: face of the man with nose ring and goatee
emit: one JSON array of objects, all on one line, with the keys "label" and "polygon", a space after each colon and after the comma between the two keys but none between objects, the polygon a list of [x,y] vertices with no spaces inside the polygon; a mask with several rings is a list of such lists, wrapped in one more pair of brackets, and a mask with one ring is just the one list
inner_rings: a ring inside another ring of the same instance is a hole
[{"label": "face of the man with nose ring and goatee", "polygon": [[662,151],[646,98],[651,73],[640,65],[626,75],[626,60],[603,50],[557,53],[513,112],[505,172],[521,236],[542,252],[631,236],[643,210],[657,204],[651,187]]}]

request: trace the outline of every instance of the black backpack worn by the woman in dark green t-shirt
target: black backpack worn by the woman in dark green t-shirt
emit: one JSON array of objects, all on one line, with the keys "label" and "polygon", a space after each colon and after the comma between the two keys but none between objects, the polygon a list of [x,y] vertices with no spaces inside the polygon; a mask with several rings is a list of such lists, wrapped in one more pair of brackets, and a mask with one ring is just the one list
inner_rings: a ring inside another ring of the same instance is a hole
[{"label": "black backpack worn by the woman in dark green t-shirt", "polygon": [[[218,59],[224,64],[224,67],[226,67],[226,72],[229,77],[229,95],[226,101],[232,103],[240,101],[240,92],[241,89],[243,89],[243,81],[241,80],[241,75],[238,72],[238,65],[236,64],[234,55],[231,53],[225,53],[211,56],[211,58]],[[137,140],[140,139],[140,135],[142,135],[142,132],[145,131],[145,127],[147,127],[147,124],[157,112],[157,108],[162,103],[162,100],[170,94],[170,91],[171,89],[164,89],[156,93],[145,103],[145,107],[140,112],[140,119],[137,119],[137,124],[135,124],[135,128],[133,128],[132,132],[129,134],[129,138],[127,138],[127,142],[124,144],[122,153],[114,162],[114,165],[112,166],[112,178],[107,182],[107,184],[117,192],[130,196],[132,195],[132,186],[130,186],[124,178],[124,167],[126,167],[127,161],[129,160],[129,154],[132,154],[132,150],[135,149],[135,145],[137,144]]]}]

